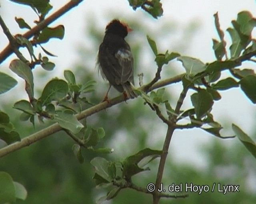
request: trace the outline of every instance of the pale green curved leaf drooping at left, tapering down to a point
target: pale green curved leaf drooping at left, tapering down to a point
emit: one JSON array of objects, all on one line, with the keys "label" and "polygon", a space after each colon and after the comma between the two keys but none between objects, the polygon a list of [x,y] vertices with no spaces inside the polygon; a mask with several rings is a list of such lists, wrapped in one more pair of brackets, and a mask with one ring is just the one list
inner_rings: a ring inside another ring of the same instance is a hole
[{"label": "pale green curved leaf drooping at left, tapering down to a point", "polygon": [[34,77],[30,67],[21,60],[14,59],[11,61],[9,68],[27,82],[28,90],[34,96]]}]

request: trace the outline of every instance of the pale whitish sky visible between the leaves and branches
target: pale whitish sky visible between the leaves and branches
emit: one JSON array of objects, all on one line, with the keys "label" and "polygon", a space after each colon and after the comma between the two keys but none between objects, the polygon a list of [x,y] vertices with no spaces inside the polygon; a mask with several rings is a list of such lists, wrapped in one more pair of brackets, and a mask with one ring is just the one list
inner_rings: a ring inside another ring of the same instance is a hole
[{"label": "pale whitish sky visible between the leaves and branches", "polygon": [[[55,11],[66,2],[68,1],[52,0],[50,3],[54,7],[53,11]],[[213,14],[218,12],[220,26],[223,30],[226,30],[231,26],[231,20],[236,19],[238,12],[242,10],[248,10],[253,16],[256,16],[255,0],[162,0],[161,2],[163,4],[164,15],[158,21],[153,18],[146,18],[147,22],[145,23],[148,25],[148,31],[154,29],[156,24],[168,22],[170,20],[177,22],[181,29],[182,26],[185,26],[189,21],[198,22],[201,27],[192,38],[191,46],[186,50],[186,53],[181,54],[199,58],[205,63],[215,60],[212,51],[212,38],[218,39],[218,35],[214,27]],[[36,19],[36,15],[29,7],[20,6],[7,0],[0,0],[0,4],[0,14],[11,33],[16,34],[24,32],[20,31],[16,22],[14,22],[15,16],[22,17],[30,25],[33,25],[33,20]],[[88,40],[83,40],[86,32],[84,28],[86,27],[86,24],[90,23],[88,21],[88,19],[90,19],[90,14],[94,14],[97,17],[96,26],[104,32],[106,24],[111,20],[109,19],[109,13],[111,11],[117,12],[117,10],[121,11],[123,18],[131,19],[143,16],[142,13],[144,12],[140,9],[134,12],[128,5],[127,0],[86,0],[50,25],[52,27],[59,24],[65,26],[64,39],[62,41],[53,40],[45,46],[52,53],[58,55],[58,58],[54,58],[52,61],[54,61],[56,67],[59,69],[54,69],[54,71],[52,71],[52,76],[62,76],[64,69],[69,69],[75,64],[76,60],[78,60],[78,47],[93,46],[90,45]],[[145,30],[142,32],[144,32],[146,36],[148,31]],[[254,37],[256,36],[255,33],[254,29]],[[177,34],[178,33],[173,33],[174,36]],[[225,32],[225,35],[226,40],[229,43],[227,47],[229,47],[230,37],[227,32]],[[170,40],[172,41],[172,39]],[[161,40],[158,40],[157,42],[162,51],[166,49],[170,50],[170,47],[165,47],[166,44],[161,42]],[[0,29],[0,49],[2,50],[7,43],[7,38],[2,33],[2,29]],[[144,43],[147,43],[146,37]],[[150,50],[150,47],[148,47],[148,49]],[[8,70],[8,65],[13,58],[14,55],[9,57],[0,65],[0,69],[18,79],[18,77]],[[246,63],[244,67],[256,68],[252,63]],[[92,69],[94,69],[94,67],[92,67]],[[180,73],[183,72],[184,70],[180,71]],[[19,80],[19,82],[21,82],[21,80]],[[21,85],[19,84],[18,86]],[[10,91],[10,94],[11,92],[12,90]],[[245,132],[251,133],[255,126],[255,105],[253,105],[238,88],[224,92],[222,91],[221,95],[222,100],[214,103],[212,112],[216,121],[220,121],[225,125],[228,124],[223,131],[224,135],[234,134],[231,130],[232,122],[242,128]],[[8,97],[8,94],[4,94],[2,97],[0,96],[0,101],[4,100],[4,97]],[[20,100],[19,96],[16,97]],[[190,100],[187,101],[185,106],[190,105]],[[232,103],[232,105],[230,105],[230,103]],[[213,136],[209,136],[209,134],[199,129],[176,131],[172,138],[170,153],[173,158],[176,158],[176,161],[190,162],[192,165],[203,168],[205,158],[200,154],[200,151],[198,151],[198,147],[209,144],[212,138]],[[239,143],[238,139],[225,140],[223,142],[227,145],[234,142]],[[186,149],[186,151],[184,151],[184,149]]]}]

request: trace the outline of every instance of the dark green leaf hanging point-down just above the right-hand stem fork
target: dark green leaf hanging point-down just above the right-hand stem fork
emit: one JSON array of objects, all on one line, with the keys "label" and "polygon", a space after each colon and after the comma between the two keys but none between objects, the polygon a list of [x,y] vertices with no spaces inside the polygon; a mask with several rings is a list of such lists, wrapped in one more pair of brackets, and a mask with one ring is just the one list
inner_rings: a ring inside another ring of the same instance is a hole
[{"label": "dark green leaf hanging point-down just above the right-hand stem fork", "polygon": [[212,108],[213,98],[210,93],[202,89],[191,95],[191,102],[195,108],[196,117],[200,119]]}]

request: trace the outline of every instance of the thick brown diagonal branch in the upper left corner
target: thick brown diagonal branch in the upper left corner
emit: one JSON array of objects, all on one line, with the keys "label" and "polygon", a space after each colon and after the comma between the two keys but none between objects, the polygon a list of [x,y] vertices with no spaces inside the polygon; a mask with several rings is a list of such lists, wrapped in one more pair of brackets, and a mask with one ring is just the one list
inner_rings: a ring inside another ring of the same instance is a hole
[{"label": "thick brown diagonal branch in the upper left corner", "polygon": [[[35,27],[33,27],[32,29],[30,29],[28,32],[24,33],[22,35],[22,37],[25,37],[26,39],[29,39],[30,37],[32,37],[33,35],[35,35],[36,33],[38,33],[39,31],[41,31],[42,29],[44,29],[45,27],[47,27],[49,24],[51,24],[52,22],[54,22],[56,19],[58,19],[60,16],[62,16],[63,14],[65,14],[66,12],[68,12],[70,9],[74,8],[75,6],[77,6],[78,4],[80,4],[83,0],[71,0],[70,2],[68,2],[67,4],[65,4],[62,8],[60,8],[58,11],[54,12],[52,15],[50,15],[48,18],[46,18],[45,20],[43,20],[42,22],[40,22],[38,25],[36,25]],[[9,38],[8,38],[9,39]],[[10,41],[10,39],[9,39]],[[20,45],[18,45],[20,46]],[[16,47],[18,48],[18,47]],[[7,45],[4,50],[0,53],[0,64],[10,55],[12,54],[12,46],[9,43],[9,45]]]}]

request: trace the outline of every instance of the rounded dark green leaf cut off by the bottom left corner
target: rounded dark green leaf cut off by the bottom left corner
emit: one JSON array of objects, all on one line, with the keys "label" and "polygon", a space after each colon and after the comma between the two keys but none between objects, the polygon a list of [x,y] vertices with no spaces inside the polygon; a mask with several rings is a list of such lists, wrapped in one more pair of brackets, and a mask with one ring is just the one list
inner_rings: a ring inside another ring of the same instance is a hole
[{"label": "rounded dark green leaf cut off by the bottom left corner", "polygon": [[3,171],[0,171],[0,203],[16,202],[15,185],[12,177]]}]

